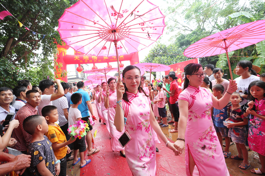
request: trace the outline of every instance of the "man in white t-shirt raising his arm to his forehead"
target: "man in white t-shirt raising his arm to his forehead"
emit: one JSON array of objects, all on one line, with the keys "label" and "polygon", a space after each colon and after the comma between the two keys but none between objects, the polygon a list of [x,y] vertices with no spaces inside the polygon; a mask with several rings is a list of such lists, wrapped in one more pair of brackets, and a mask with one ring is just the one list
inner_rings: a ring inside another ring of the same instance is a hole
[{"label": "man in white t-shirt raising his arm to his forehead", "polygon": [[[54,83],[56,83],[58,86],[57,93],[54,93],[54,90],[55,90]],[[37,108],[38,108],[38,114],[42,115],[41,114],[42,108],[47,105],[52,105],[51,101],[64,96],[64,89],[62,85],[60,84],[60,80],[58,79],[56,79],[55,81],[51,81],[47,79],[42,80],[41,82],[39,82],[39,88],[42,91],[42,95],[41,95],[41,103],[39,103]]]}]

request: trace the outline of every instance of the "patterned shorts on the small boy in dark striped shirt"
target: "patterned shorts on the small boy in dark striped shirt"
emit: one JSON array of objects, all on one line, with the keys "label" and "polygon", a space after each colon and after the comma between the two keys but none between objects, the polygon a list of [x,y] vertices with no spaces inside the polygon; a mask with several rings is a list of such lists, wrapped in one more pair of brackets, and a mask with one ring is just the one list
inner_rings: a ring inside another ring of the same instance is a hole
[{"label": "patterned shorts on the small boy in dark striped shirt", "polygon": [[232,141],[236,143],[245,144],[247,135],[246,127],[232,127],[228,131],[228,137],[231,137]]}]

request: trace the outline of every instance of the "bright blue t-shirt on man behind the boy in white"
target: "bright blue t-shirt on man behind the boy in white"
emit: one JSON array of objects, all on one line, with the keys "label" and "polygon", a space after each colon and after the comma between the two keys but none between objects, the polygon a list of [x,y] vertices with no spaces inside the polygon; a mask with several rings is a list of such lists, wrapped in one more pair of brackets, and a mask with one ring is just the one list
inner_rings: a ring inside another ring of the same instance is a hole
[{"label": "bright blue t-shirt on man behind the boy in white", "polygon": [[[88,110],[88,107],[86,104],[87,101],[90,101],[90,97],[89,97],[88,92],[84,91],[83,89],[78,89],[76,92],[74,92],[74,94],[75,93],[82,94],[82,103],[80,105],[78,105],[78,107],[77,107],[78,110],[80,110],[82,117],[89,116],[89,110]],[[70,101],[70,104],[73,104],[73,102]]]}]

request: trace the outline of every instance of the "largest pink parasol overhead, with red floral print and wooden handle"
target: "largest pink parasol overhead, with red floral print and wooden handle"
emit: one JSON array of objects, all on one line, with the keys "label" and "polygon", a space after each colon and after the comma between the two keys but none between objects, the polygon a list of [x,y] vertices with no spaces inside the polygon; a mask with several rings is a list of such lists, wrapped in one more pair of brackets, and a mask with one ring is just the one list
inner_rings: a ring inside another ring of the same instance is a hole
[{"label": "largest pink parasol overhead, with red floral print and wooden handle", "polygon": [[119,64],[119,55],[138,52],[162,35],[164,18],[147,0],[80,0],[60,17],[58,31],[74,50],[115,55]]}]

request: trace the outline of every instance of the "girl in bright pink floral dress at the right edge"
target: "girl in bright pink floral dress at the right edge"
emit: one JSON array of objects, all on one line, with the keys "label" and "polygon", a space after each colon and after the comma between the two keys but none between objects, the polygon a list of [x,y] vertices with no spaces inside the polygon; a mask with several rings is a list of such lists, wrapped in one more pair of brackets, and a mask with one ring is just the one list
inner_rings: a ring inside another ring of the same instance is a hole
[{"label": "girl in bright pink floral dress at the right edge", "polygon": [[[254,115],[250,119],[248,143],[251,150],[258,152],[261,169],[252,169],[252,173],[265,174],[265,82],[253,81],[248,88],[248,108],[244,115]],[[251,110],[255,107],[255,110]]]}]

